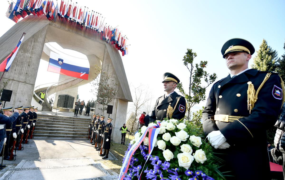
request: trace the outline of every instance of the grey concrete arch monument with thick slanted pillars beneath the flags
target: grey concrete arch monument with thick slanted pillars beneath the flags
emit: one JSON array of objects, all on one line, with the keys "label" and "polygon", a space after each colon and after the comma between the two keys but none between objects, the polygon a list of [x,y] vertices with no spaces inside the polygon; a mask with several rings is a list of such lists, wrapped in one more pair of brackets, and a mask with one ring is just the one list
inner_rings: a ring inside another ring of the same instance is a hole
[{"label": "grey concrete arch monument with thick slanted pillars beneath the flags", "polygon": [[[29,16],[16,23],[0,38],[1,62],[15,48],[23,32],[26,32],[25,39],[12,66],[3,78],[10,79],[6,89],[13,91],[11,102],[6,103],[7,107],[30,105],[40,58],[47,60],[49,56],[50,50],[45,47],[45,43],[57,42],[64,49],[85,54],[90,64],[89,79],[79,79],[66,88],[78,87],[92,81],[93,78],[90,77],[97,77],[94,71],[95,65],[101,66],[103,70],[108,71],[112,79],[119,82],[115,87],[118,93],[110,103],[113,105],[113,113],[110,116],[114,118],[112,124],[115,128],[122,126],[126,120],[128,102],[132,101],[132,97],[121,56],[114,45],[101,40],[97,33],[81,30],[74,23],[70,24],[58,19],[52,22],[44,16]],[[96,108],[98,109],[98,105]],[[96,113],[107,115],[106,112],[97,111]],[[117,134],[114,135],[117,136]]]}]

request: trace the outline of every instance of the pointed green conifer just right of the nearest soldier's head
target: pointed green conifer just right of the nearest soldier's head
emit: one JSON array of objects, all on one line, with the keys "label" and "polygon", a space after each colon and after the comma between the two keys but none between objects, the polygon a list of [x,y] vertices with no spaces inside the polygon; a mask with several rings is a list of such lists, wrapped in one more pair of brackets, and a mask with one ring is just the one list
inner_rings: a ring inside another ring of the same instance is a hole
[{"label": "pointed green conifer just right of the nearest soldier's head", "polygon": [[260,71],[276,71],[278,62],[278,54],[276,50],[272,50],[268,46],[265,39],[262,40],[259,50],[257,51],[257,56],[253,58],[253,69]]}]

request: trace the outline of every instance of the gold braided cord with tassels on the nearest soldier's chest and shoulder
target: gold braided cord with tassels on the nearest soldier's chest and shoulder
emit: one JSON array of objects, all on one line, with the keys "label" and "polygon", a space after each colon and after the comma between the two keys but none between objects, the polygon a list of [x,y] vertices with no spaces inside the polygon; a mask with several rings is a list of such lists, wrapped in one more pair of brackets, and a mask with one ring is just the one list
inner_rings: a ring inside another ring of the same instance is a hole
[{"label": "gold braided cord with tassels on the nearest soldier's chest and shoulder", "polygon": [[256,92],[255,92],[253,83],[249,81],[250,83],[248,83],[249,86],[247,89],[247,110],[249,110],[249,114],[251,113],[251,110],[253,109],[255,102],[257,101],[257,95],[260,89],[262,88],[264,83],[269,79],[270,75],[271,73],[266,74],[266,76],[264,77],[262,83],[260,84]]}]

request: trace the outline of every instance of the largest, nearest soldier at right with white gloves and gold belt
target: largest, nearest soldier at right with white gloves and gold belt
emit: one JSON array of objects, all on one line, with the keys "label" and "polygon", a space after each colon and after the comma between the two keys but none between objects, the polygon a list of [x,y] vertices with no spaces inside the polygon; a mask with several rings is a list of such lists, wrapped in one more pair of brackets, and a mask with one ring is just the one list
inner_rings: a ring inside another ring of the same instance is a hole
[{"label": "largest, nearest soldier at right with white gloves and gold belt", "polygon": [[247,40],[230,39],[221,52],[230,74],[209,93],[203,131],[225,160],[219,170],[228,168],[229,178],[271,179],[266,129],[280,114],[284,83],[277,73],[248,68],[255,49]]}]

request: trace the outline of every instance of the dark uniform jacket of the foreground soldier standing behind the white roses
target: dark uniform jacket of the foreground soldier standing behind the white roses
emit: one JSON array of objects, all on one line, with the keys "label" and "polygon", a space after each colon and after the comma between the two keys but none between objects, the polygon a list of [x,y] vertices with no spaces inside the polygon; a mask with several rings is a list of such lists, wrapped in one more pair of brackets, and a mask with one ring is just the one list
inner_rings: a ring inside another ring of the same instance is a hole
[{"label": "dark uniform jacket of the foreground soldier standing behind the white roses", "polygon": [[185,98],[183,96],[178,95],[175,91],[172,94],[170,94],[170,96],[166,98],[164,97],[165,95],[159,97],[156,100],[156,104],[152,109],[149,121],[154,122],[154,120],[163,120],[164,118],[166,118],[168,105],[170,105],[174,109],[179,97],[180,99],[174,109],[172,119],[178,119],[178,120],[183,119],[186,112]]}]

